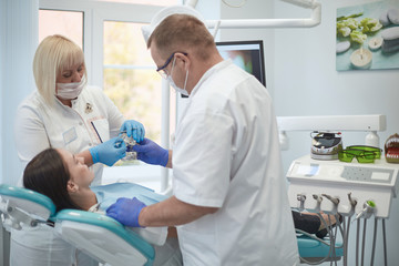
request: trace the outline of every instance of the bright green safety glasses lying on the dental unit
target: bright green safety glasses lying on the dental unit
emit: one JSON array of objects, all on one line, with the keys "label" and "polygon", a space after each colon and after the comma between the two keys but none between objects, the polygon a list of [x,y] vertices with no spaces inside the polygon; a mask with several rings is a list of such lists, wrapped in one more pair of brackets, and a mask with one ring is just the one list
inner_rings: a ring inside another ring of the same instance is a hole
[{"label": "bright green safety glasses lying on the dental unit", "polygon": [[354,157],[359,163],[374,163],[376,158],[381,158],[381,149],[366,145],[347,146],[338,151],[338,158],[341,162],[350,163]]}]

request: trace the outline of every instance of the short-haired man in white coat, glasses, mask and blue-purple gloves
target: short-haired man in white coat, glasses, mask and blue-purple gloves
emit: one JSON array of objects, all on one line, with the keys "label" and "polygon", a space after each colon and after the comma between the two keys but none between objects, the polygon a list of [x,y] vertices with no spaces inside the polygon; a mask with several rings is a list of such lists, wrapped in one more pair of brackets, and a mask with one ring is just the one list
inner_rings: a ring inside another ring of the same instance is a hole
[{"label": "short-haired man in white coat, glasses, mask and blue-purple gloves", "polygon": [[144,139],[150,164],[173,166],[173,196],[145,206],[120,198],[109,216],[129,226],[176,226],[183,265],[299,265],[273,102],[223,61],[198,19],[166,17],[147,47],[157,71],[188,94],[173,152]]}]

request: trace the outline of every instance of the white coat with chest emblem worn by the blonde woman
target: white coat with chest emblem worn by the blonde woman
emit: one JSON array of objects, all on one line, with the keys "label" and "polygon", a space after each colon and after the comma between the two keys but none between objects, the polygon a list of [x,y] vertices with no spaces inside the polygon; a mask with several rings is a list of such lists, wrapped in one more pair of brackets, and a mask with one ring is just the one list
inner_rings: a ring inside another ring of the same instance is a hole
[{"label": "white coat with chest emblem worn by the blonde woman", "polygon": [[[100,88],[84,88],[79,98],[72,101],[72,108],[59,100],[53,106],[48,106],[34,91],[18,108],[14,127],[18,155],[25,167],[34,155],[48,147],[80,153],[98,145],[100,139],[105,142],[116,136],[123,121],[123,115]],[[95,173],[93,184],[100,184],[103,165],[92,167]],[[19,184],[22,184],[21,181]],[[37,227],[30,232],[12,231],[11,265],[71,265],[76,256],[74,247],[52,232],[50,227]],[[85,257],[84,254],[78,255],[80,262]],[[86,262],[79,265],[93,265],[91,259],[84,259]]]}]

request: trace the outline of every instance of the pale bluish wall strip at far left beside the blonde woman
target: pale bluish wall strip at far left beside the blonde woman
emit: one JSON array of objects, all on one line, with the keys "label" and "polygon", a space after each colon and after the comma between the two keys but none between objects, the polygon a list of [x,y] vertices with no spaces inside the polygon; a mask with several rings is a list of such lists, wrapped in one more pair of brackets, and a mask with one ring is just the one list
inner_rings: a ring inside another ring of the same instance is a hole
[{"label": "pale bluish wall strip at far left beside the blonde woman", "polygon": [[39,0],[1,0],[1,175],[16,184],[22,174],[13,139],[18,104],[34,90],[32,60],[38,45]]}]

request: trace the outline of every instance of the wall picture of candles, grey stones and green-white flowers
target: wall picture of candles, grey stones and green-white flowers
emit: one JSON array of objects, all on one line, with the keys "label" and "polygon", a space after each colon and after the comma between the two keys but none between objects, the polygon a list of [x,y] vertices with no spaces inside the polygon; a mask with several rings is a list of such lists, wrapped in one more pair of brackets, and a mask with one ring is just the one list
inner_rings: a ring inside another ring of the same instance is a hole
[{"label": "wall picture of candles, grey stones and green-white flowers", "polygon": [[399,1],[337,9],[336,69],[399,69]]}]

